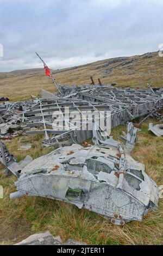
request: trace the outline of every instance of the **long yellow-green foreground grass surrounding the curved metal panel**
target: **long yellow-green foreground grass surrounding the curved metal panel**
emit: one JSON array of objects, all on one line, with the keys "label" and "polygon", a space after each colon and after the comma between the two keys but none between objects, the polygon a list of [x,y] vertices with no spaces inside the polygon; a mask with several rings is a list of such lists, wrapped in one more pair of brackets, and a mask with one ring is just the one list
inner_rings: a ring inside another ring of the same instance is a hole
[{"label": "long yellow-green foreground grass surrounding the curved metal panel", "polygon": [[[138,133],[138,141],[132,156],[146,165],[146,173],[158,184],[163,184],[163,138],[158,138],[148,131],[147,120]],[[112,130],[117,139],[126,126],[118,126]],[[19,138],[7,143],[12,154],[22,160],[26,154],[36,158],[48,153],[42,151],[42,136],[21,137],[33,142],[32,149],[17,151]],[[3,167],[1,166],[1,169]],[[79,210],[76,206],[56,200],[39,197],[22,197],[9,199],[9,194],[16,191],[16,178],[0,173],[0,184],[4,188],[4,199],[0,204],[0,244],[13,244],[27,236],[44,231],[51,231],[54,236],[60,235],[63,241],[74,239],[88,245],[160,245],[162,241],[162,210],[163,203],[159,200],[157,212],[148,212],[142,222],[131,222],[119,227],[112,225],[103,216],[91,211]]]}]

